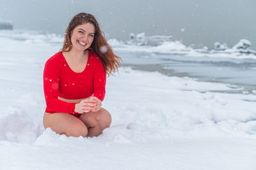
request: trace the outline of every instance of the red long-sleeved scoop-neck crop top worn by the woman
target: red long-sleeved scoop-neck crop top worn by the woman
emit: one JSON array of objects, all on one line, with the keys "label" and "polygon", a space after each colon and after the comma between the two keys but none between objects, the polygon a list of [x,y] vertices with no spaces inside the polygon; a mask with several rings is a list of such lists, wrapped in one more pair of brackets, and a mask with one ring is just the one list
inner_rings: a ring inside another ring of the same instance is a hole
[{"label": "red long-sleeved scoop-neck crop top worn by the woman", "polygon": [[62,52],[58,52],[45,63],[44,95],[45,112],[75,113],[75,104],[59,100],[81,99],[86,97],[99,98],[105,96],[106,72],[100,59],[88,50],[88,61],[83,72],[76,73],[68,66]]}]

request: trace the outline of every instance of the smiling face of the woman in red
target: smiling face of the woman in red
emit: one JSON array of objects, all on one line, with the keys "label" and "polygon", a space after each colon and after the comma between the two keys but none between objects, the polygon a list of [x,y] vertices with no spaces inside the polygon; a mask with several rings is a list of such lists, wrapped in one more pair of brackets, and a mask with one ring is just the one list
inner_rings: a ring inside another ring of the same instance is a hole
[{"label": "smiling face of the woman in red", "polygon": [[86,23],[76,26],[71,33],[72,48],[76,50],[86,50],[93,42],[95,27],[93,24]]}]

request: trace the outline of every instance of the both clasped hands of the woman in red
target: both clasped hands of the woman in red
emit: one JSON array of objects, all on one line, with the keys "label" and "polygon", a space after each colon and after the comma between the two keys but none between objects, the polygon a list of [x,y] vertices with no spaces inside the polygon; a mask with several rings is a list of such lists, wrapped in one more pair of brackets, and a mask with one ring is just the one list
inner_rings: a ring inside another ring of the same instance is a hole
[{"label": "both clasped hands of the woman in red", "polygon": [[101,100],[97,97],[90,97],[82,100],[80,103],[76,104],[75,112],[97,112],[102,106]]}]

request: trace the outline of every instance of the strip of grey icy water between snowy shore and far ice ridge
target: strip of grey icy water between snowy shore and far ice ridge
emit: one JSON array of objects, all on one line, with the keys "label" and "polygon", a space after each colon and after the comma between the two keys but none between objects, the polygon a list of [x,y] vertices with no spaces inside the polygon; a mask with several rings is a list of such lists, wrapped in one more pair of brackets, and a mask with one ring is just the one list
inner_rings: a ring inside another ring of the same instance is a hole
[{"label": "strip of grey icy water between snowy shore and far ice ridge", "polygon": [[243,91],[256,89],[256,59],[188,57],[147,52],[117,52],[123,66],[158,71],[170,76],[195,77],[199,81],[223,82]]}]

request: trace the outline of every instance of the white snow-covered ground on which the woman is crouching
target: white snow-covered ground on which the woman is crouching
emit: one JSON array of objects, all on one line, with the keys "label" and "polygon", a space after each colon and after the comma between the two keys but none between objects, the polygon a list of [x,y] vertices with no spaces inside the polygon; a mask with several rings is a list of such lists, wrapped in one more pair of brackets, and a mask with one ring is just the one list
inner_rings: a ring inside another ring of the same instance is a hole
[{"label": "white snow-covered ground on which the woman is crouching", "polygon": [[42,72],[60,48],[58,36],[0,33],[0,169],[256,169],[256,91],[221,93],[232,84],[120,68],[102,135],[44,130]]}]

